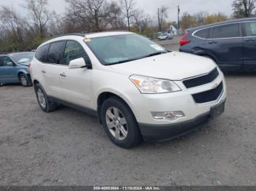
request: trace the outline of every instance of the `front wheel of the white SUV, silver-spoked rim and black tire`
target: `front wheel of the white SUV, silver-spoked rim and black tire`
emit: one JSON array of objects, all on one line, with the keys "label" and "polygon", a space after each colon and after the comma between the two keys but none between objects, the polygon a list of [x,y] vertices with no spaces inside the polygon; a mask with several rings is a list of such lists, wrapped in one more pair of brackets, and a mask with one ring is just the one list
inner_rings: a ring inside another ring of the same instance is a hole
[{"label": "front wheel of the white SUV, silver-spoked rim and black tire", "polygon": [[[115,114],[114,111],[117,111],[118,114]],[[110,120],[110,116],[116,117],[116,120]],[[129,106],[124,104],[120,98],[112,97],[104,101],[100,109],[100,117],[109,139],[118,147],[129,149],[142,142],[138,122]]]}]

